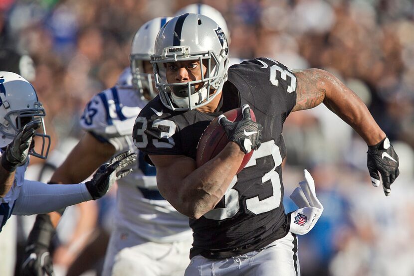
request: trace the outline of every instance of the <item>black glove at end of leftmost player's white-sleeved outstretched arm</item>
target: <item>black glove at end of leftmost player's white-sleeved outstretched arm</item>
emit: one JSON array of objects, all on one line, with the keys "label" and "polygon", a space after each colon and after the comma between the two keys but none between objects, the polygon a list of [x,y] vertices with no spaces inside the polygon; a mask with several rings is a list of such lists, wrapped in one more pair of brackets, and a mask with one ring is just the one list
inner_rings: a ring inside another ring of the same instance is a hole
[{"label": "black glove at end of leftmost player's white-sleeved outstretched arm", "polygon": [[85,182],[92,199],[101,198],[109,191],[116,180],[130,174],[132,169],[124,168],[134,163],[135,160],[137,160],[137,154],[125,150],[112,156],[108,163],[101,165],[92,179]]}]

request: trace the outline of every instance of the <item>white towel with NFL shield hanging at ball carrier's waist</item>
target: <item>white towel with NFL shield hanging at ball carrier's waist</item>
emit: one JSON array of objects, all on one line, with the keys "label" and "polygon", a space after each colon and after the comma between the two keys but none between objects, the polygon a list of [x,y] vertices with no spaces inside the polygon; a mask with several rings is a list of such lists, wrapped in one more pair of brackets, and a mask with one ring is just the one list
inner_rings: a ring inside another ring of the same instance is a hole
[{"label": "white towel with NFL shield hanging at ball carrier's waist", "polygon": [[[299,207],[290,214],[290,232],[297,235],[308,233],[322,215],[323,206],[316,197],[312,175],[303,170],[305,180],[292,192],[290,199]],[[289,215],[288,214],[288,215]]]}]

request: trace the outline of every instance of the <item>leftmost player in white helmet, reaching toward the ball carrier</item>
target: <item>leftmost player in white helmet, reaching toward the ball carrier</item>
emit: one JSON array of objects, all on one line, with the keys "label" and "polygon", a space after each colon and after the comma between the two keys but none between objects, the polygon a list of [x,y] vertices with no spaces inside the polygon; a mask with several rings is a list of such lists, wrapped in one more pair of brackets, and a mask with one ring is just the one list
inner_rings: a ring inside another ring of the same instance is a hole
[{"label": "leftmost player in white helmet, reaching toward the ball carrier", "polygon": [[[123,153],[117,157],[116,163],[104,164],[100,172],[86,183],[48,185],[25,180],[29,154],[45,159],[50,144],[46,140],[50,141],[50,137],[44,129],[45,112],[34,88],[27,80],[12,72],[0,72],[0,115],[0,231],[12,214],[47,213],[100,198],[116,179],[113,174],[135,160],[135,155],[125,159],[127,162],[122,160]],[[42,134],[36,134],[41,126]],[[35,136],[43,139],[40,153],[33,149],[32,138]],[[123,176],[128,172],[121,171],[120,174]]]}]

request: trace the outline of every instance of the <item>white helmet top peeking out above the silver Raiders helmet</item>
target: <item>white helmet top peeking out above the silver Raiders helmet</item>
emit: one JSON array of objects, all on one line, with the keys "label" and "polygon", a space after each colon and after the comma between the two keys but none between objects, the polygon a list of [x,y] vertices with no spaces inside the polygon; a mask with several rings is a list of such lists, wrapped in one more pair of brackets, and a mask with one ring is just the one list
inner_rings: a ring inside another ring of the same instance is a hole
[{"label": "white helmet top peeking out above the silver Raiders helmet", "polygon": [[230,45],[230,31],[227,28],[227,23],[223,15],[218,10],[207,4],[190,4],[177,11],[174,16],[185,13],[203,14],[213,19],[223,30],[225,37],[227,38],[227,42]]}]

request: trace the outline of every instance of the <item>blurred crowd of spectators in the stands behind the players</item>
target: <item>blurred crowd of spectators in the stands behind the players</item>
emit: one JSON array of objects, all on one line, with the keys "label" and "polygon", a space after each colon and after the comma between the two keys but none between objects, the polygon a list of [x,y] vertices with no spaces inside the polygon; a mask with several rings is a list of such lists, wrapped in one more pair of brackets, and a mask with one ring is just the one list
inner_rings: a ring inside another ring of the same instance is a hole
[{"label": "blurred crowd of spectators in the stands behind the players", "polygon": [[[17,73],[36,89],[52,148],[58,148],[82,136],[78,121],[85,104],[129,66],[141,24],[192,2],[0,0],[0,70],[13,51],[28,56]],[[304,168],[324,205],[315,228],[299,237],[302,275],[414,275],[413,1],[200,2],[226,19],[230,57],[265,56],[291,69],[334,73],[362,98],[400,156],[401,175],[386,198],[370,184],[367,145],[336,115],[321,105],[289,116],[283,131],[286,211],[295,209],[289,194]],[[100,218],[110,217],[110,198],[99,205]]]}]

